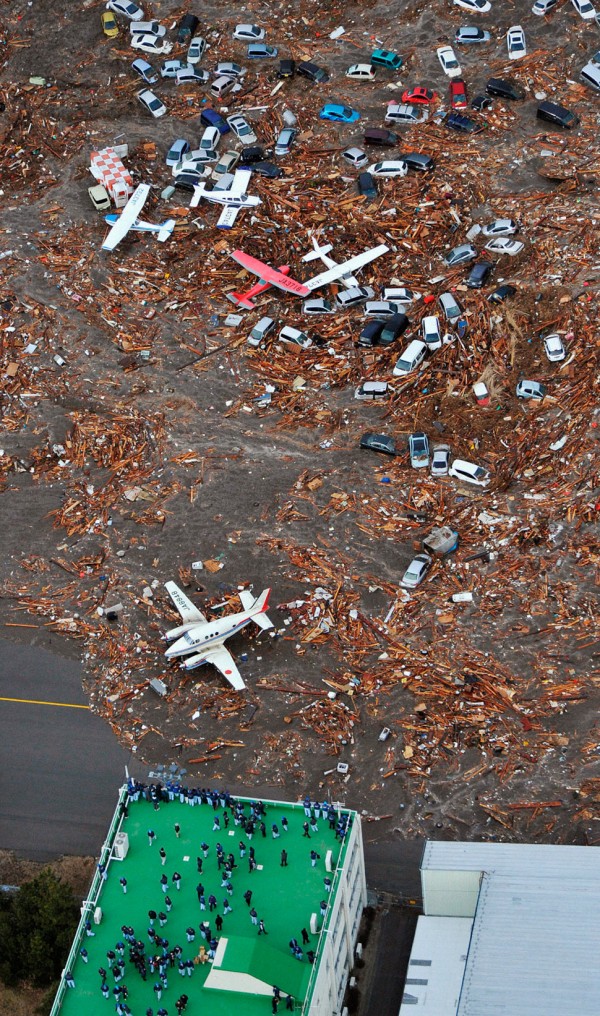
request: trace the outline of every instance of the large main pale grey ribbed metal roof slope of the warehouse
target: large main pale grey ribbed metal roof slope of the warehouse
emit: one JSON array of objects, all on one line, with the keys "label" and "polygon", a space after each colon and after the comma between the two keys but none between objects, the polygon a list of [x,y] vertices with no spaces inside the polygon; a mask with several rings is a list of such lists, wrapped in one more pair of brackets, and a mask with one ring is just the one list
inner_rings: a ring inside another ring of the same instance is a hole
[{"label": "large main pale grey ribbed metal roof slope of the warehouse", "polygon": [[[586,865],[599,856],[593,847],[518,849],[574,851],[574,863],[583,853]],[[541,878],[483,878],[457,1016],[600,1013],[598,862],[588,879],[574,867],[554,880],[554,865],[544,856]]]}]

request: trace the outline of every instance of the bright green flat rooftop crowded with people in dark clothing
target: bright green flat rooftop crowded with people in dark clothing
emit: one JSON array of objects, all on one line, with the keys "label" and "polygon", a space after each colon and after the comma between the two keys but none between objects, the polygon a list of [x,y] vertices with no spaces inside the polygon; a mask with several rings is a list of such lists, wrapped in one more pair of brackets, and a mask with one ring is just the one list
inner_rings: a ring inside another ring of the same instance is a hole
[{"label": "bright green flat rooftop crowded with people in dark clothing", "polygon": [[[243,799],[237,799],[243,800]],[[277,802],[264,802],[266,816],[266,836],[260,832],[257,823],[252,839],[248,837],[242,826],[235,825],[234,813],[229,814],[229,826],[224,828],[223,809],[213,811],[211,804],[190,807],[181,804],[179,800],[161,802],[155,811],[151,802],[140,799],[129,804],[129,814],[123,819],[120,831],[129,837],[129,852],[124,861],[112,860],[108,866],[108,879],[99,887],[96,905],[103,910],[99,925],[92,924],[93,937],[82,933],[73,947],[74,958],[71,958],[68,969],[75,981],[74,988],[66,988],[57,996],[53,1013],[61,1016],[107,1016],[115,1011],[113,989],[115,978],[109,969],[107,952],[114,950],[116,943],[124,941],[122,926],[134,929],[135,938],[144,943],[145,955],[156,955],[160,950],[148,937],[148,910],[166,912],[165,894],[160,886],[160,878],[169,879],[166,895],[173,902],[172,909],[166,913],[166,924],[159,927],[154,923],[156,933],[169,941],[169,949],[179,945],[182,947],[182,959],[194,960],[198,957],[201,946],[208,950],[208,943],[199,932],[201,922],[210,924],[212,934],[217,938],[218,946],[214,962],[196,963],[192,975],[182,976],[178,963],[168,968],[168,988],[162,996],[156,999],[153,986],[158,980],[158,971],[151,973],[148,969],[144,981],[129,961],[129,946],[125,943],[125,975],[120,985],[126,985],[128,990],[127,1005],[133,1016],[145,1016],[146,1009],[154,1013],[163,1007],[169,1016],[176,1016],[175,1003],[182,994],[189,996],[186,1016],[210,1014],[210,1016],[264,1016],[271,1012],[272,987],[276,985],[282,996],[292,995],[294,1008],[299,1009],[307,1000],[310,990],[313,966],[307,958],[309,951],[317,954],[319,962],[320,935],[311,934],[311,915],[318,915],[318,929],[322,930],[328,917],[320,915],[320,903],[323,899],[333,900],[336,890],[335,869],[343,865],[345,841],[342,844],[335,838],[335,829],[330,829],[329,822],[318,818],[318,831],[311,831],[311,838],[304,835],[304,823],[307,821],[302,805],[289,805]],[[245,813],[250,815],[250,802],[245,802]],[[117,813],[116,813],[117,814]],[[336,813],[337,814],[337,813]],[[214,816],[220,819],[220,831],[213,831]],[[283,830],[281,819],[288,822],[288,831]],[[276,823],[279,837],[272,836],[272,824]],[[181,827],[180,836],[176,835],[175,826]],[[117,818],[112,827],[116,830]],[[152,845],[148,844],[148,829],[155,833]],[[246,842],[246,855],[241,858],[239,843]],[[109,842],[112,840],[110,839]],[[202,842],[209,844],[206,859],[200,848]],[[221,888],[221,872],[218,870],[215,845],[220,842],[225,856],[230,852],[235,855],[238,867],[231,875],[232,895],[228,896],[226,889]],[[258,868],[249,871],[249,848],[255,849]],[[166,851],[166,862],[161,865],[160,847]],[[287,867],[281,867],[281,850],[287,851]],[[311,850],[320,854],[316,867],[311,864]],[[329,877],[333,880],[331,897],[328,897],[324,886],[324,878],[328,875],[325,869],[325,856],[328,850],[333,853],[333,871]],[[197,870],[197,858],[203,860],[203,870]],[[174,873],[182,876],[181,888],[178,891],[173,883]],[[123,892],[120,879],[127,880],[127,893]],[[206,910],[200,909],[196,886],[201,882],[206,897]],[[252,890],[252,903],[249,906],[244,899],[246,890]],[[97,880],[92,887],[90,899],[95,898]],[[208,897],[213,894],[217,899],[217,907],[213,912],[208,909]],[[227,899],[232,907],[232,913],[223,912],[223,901]],[[250,916],[251,906],[257,911],[258,919],[264,922],[266,935],[258,934]],[[93,907],[89,916],[93,913]],[[223,924],[222,931],[216,932],[215,918],[220,914]],[[194,928],[195,939],[187,941],[186,930]],[[310,935],[310,943],[303,946],[302,931],[306,929]],[[304,958],[298,960],[291,955],[290,939],[297,939],[303,948]],[[88,953],[85,963],[79,950],[84,947]],[[110,1000],[101,992],[101,976],[98,968],[108,970],[106,978],[109,985]],[[280,1005],[280,1013],[285,1007]]]}]

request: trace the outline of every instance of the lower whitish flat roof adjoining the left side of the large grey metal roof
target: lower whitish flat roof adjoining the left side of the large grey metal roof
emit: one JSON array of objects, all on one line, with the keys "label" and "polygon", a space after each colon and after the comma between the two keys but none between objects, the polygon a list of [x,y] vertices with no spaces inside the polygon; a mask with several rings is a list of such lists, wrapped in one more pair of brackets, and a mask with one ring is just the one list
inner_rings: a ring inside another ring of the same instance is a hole
[{"label": "lower whitish flat roof adjoining the left side of the large grey metal roof", "polygon": [[455,1016],[472,927],[469,917],[418,918],[400,1016]]}]

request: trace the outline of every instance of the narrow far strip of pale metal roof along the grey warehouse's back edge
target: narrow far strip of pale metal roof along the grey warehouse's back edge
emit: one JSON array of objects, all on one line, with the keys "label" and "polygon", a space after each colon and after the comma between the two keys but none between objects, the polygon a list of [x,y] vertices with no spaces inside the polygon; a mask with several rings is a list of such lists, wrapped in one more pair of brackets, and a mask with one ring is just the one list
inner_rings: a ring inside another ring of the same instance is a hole
[{"label": "narrow far strip of pale metal roof along the grey warehouse's back edge", "polygon": [[478,871],[496,875],[595,880],[600,884],[600,848],[548,843],[427,842],[421,871]]}]

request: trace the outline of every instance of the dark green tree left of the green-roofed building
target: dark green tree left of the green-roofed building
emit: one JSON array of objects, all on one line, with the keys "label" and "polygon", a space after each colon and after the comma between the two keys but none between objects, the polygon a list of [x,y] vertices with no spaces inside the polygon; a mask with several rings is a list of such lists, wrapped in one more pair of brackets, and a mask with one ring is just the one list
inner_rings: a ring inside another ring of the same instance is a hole
[{"label": "dark green tree left of the green-roofed building", "polygon": [[77,927],[73,893],[46,868],[0,906],[0,977],[45,988],[61,973]]}]

